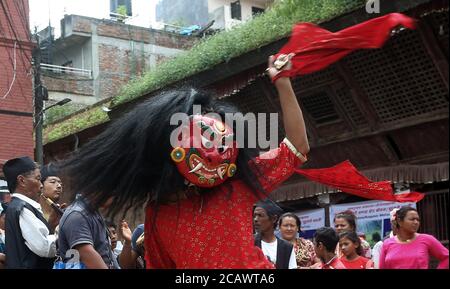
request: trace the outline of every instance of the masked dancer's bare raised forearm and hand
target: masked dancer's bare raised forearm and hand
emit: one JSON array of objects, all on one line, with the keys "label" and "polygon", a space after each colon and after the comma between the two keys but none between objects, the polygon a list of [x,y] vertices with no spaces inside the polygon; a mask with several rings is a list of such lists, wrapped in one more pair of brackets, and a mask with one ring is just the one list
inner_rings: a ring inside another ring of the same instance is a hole
[{"label": "masked dancer's bare raised forearm and hand", "polygon": [[[292,58],[291,55],[285,57],[288,57],[289,60]],[[278,70],[274,65],[275,60],[273,56],[269,58],[267,72],[271,78],[281,70],[288,70],[291,67],[291,62],[289,61],[284,68]],[[305,121],[297,97],[292,89],[291,81],[288,77],[280,77],[275,81],[275,87],[280,97],[286,137],[300,153],[307,155],[309,152],[309,143],[306,135]]]}]

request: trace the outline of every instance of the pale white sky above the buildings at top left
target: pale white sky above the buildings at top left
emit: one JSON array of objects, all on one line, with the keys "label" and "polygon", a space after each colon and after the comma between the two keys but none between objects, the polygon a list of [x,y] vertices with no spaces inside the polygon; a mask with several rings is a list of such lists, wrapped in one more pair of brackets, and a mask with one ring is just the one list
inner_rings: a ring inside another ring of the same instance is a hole
[{"label": "pale white sky above the buildings at top left", "polygon": [[[140,16],[151,17],[143,15],[141,11],[154,11],[157,2],[158,0],[133,0],[133,5],[137,5],[133,6],[133,14],[136,11],[141,13]],[[34,32],[35,27],[38,31],[44,29],[50,21],[51,26],[55,27],[56,37],[60,34],[60,21],[64,14],[109,18],[109,0],[29,0],[29,4],[31,31]]]}]

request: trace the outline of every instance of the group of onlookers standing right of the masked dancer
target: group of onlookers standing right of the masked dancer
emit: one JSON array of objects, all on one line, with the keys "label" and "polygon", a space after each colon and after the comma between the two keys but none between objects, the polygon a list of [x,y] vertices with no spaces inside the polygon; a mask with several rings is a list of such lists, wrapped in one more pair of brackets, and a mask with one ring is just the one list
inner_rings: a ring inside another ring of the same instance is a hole
[{"label": "group of onlookers standing right of the masked dancer", "polygon": [[[312,242],[299,237],[301,222],[297,215],[290,212],[280,215],[281,212],[270,201],[256,204],[254,210],[255,243],[276,268],[428,269],[431,258],[438,261],[437,269],[449,268],[448,249],[433,236],[418,233],[419,215],[410,206],[391,212],[392,231],[384,241],[378,239],[373,249],[357,234],[356,216],[351,211],[336,214],[334,228],[317,229]],[[274,234],[277,222],[281,238]],[[291,246],[286,249],[287,243]],[[279,258],[284,261],[278,261]]]}]

